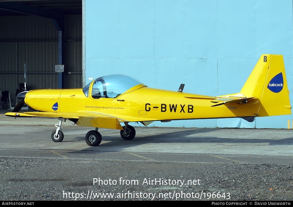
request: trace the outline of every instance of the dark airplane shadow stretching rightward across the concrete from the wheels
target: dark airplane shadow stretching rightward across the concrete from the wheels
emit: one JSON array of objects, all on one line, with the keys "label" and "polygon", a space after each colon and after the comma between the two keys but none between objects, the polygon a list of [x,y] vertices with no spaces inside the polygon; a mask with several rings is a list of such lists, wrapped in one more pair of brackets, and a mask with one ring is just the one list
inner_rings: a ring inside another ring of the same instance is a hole
[{"label": "dark airplane shadow stretching rightward across the concrete from the wheels", "polygon": [[[195,128],[195,129],[180,129],[177,132],[168,132],[164,133],[166,129],[162,130],[160,134],[146,135],[146,133],[151,132],[147,128],[137,132],[137,136],[133,140],[123,140],[120,136],[103,136],[103,142],[96,147],[88,147],[84,150],[98,150],[96,153],[102,153],[100,150],[109,150],[112,151],[112,147],[115,147],[115,151],[123,150],[127,147],[139,146],[142,144],[171,144],[171,143],[185,143],[185,144],[200,144],[200,143],[211,143],[211,144],[237,144],[238,146],[244,145],[245,143],[255,143],[255,144],[264,144],[269,143],[268,145],[292,145],[293,137],[285,139],[266,139],[266,133],[261,135],[261,132],[258,132],[258,138],[225,138],[223,135],[219,137],[205,136],[207,132],[217,132],[215,128]],[[237,129],[235,129],[237,130]],[[101,133],[102,134],[102,133]],[[202,136],[200,134],[203,134]],[[253,136],[253,135],[252,135]],[[76,137],[76,140],[84,141],[84,137]],[[235,145],[231,146],[235,147]]]}]

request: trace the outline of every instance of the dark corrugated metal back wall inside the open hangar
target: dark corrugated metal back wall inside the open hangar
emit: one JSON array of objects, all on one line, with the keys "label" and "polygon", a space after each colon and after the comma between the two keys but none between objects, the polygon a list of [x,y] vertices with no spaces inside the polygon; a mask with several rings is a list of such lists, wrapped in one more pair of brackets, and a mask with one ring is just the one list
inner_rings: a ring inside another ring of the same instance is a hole
[{"label": "dark corrugated metal back wall inside the open hangar", "polygon": [[[16,89],[58,88],[58,31],[52,20],[37,16],[0,16],[0,89],[10,92],[15,104]],[[65,87],[82,87],[81,15],[65,17]]]}]

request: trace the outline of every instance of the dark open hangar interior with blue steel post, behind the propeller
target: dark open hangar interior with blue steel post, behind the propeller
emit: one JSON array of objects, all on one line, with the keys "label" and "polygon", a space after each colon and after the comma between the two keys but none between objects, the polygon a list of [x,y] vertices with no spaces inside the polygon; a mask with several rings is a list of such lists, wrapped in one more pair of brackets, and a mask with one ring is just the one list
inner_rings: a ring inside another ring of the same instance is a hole
[{"label": "dark open hangar interior with blue steel post, behind the propeller", "polygon": [[82,87],[81,0],[4,0],[0,25],[0,90],[10,92],[12,106],[24,65],[28,90]]}]

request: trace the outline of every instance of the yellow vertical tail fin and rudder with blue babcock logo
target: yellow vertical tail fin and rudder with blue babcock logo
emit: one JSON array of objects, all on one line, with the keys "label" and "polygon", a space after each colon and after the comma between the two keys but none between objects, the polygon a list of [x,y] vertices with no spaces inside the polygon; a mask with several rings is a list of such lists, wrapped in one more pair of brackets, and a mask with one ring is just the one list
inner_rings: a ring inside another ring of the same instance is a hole
[{"label": "yellow vertical tail fin and rudder with blue babcock logo", "polygon": [[260,100],[258,116],[291,114],[283,56],[262,55],[240,93]]}]

